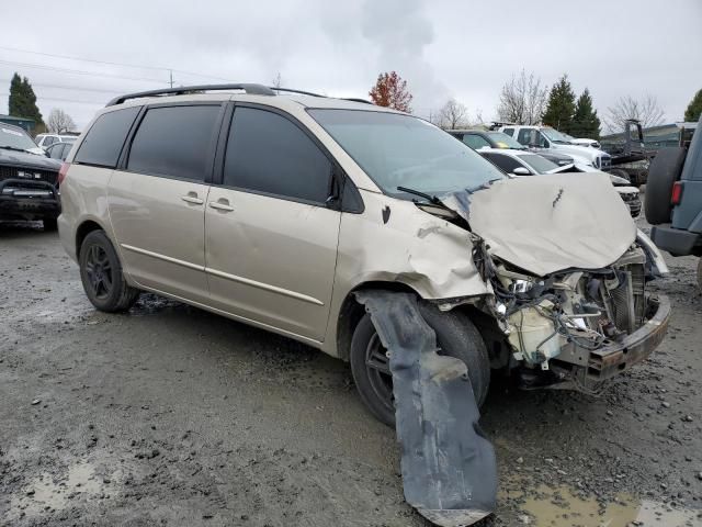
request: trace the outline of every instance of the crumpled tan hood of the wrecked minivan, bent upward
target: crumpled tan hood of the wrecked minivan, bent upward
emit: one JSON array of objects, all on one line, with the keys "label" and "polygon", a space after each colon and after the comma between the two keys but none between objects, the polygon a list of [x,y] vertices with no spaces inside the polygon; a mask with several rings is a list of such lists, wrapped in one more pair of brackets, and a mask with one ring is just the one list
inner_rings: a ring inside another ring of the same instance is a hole
[{"label": "crumpled tan hood of the wrecked minivan, bent upward", "polygon": [[506,178],[442,201],[467,216],[491,255],[540,277],[607,267],[636,238],[629,209],[605,173]]}]

